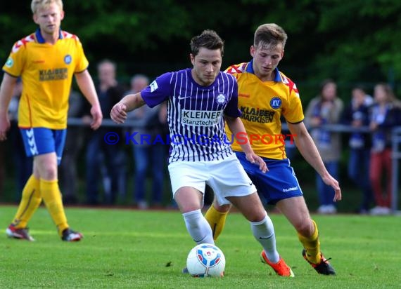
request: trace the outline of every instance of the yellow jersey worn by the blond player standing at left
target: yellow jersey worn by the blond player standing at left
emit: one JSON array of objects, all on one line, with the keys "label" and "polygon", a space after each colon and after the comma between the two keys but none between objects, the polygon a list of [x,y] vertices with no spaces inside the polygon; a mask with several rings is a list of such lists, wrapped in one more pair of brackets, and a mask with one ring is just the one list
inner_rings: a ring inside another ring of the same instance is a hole
[{"label": "yellow jersey worn by the blond player standing at left", "polygon": [[39,29],[17,41],[3,70],[23,81],[18,126],[65,129],[72,76],[88,65],[78,37],[63,30],[53,45]]}]

